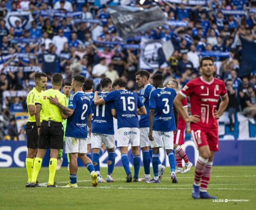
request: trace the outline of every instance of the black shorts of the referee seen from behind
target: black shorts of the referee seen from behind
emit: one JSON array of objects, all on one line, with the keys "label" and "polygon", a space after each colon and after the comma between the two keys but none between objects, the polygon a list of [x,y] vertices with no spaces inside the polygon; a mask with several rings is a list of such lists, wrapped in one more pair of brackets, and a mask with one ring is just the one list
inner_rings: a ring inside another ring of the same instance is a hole
[{"label": "black shorts of the referee seen from behind", "polygon": [[52,122],[48,127],[48,122],[43,120],[38,138],[38,149],[63,149],[63,135],[61,122]]}]

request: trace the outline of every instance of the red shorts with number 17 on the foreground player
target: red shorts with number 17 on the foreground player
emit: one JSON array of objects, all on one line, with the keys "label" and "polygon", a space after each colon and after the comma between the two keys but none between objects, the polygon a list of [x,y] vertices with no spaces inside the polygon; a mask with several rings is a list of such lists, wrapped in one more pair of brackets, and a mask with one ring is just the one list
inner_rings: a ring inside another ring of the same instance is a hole
[{"label": "red shorts with number 17 on the foreground player", "polygon": [[219,151],[218,128],[206,129],[191,125],[191,135],[197,148],[209,145],[211,151]]}]

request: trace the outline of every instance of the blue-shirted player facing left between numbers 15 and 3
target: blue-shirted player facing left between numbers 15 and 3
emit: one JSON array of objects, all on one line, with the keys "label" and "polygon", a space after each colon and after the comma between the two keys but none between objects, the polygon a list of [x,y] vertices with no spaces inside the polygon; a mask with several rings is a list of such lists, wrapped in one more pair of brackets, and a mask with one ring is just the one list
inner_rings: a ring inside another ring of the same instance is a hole
[{"label": "blue-shirted player facing left between numbers 15 and 3", "polygon": [[[152,90],[156,88],[149,83],[149,72],[142,70],[136,73],[136,83],[140,90],[140,100],[144,103],[147,110],[146,115],[140,117],[140,148],[142,150],[143,165],[144,165],[144,176],[139,179],[140,182],[149,181],[150,177],[150,158],[152,158],[151,142],[149,141],[149,95]],[[161,164],[159,159],[158,165],[159,179],[161,180],[164,174],[165,167]]]}]

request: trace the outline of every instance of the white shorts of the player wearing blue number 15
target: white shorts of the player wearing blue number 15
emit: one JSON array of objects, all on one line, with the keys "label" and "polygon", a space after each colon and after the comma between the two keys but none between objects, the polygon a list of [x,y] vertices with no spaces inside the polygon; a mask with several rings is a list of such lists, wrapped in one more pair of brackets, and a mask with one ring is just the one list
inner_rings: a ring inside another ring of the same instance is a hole
[{"label": "white shorts of the player wearing blue number 15", "polygon": [[121,127],[118,129],[117,146],[140,146],[140,129],[137,127]]}]

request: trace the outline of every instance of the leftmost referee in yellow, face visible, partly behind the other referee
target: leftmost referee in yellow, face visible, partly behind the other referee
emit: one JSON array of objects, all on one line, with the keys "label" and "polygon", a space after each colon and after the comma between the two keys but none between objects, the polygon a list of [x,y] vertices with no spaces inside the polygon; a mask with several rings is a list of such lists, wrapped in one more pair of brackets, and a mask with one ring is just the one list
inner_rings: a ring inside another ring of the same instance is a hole
[{"label": "leftmost referee in yellow, face visible, partly behind the other referee", "polygon": [[[36,157],[38,132],[36,128],[35,118],[35,101],[39,98],[41,92],[45,90],[47,84],[47,75],[42,72],[35,74],[36,86],[28,93],[27,106],[28,106],[28,123],[26,124],[26,135],[27,135],[27,148],[28,154],[26,158],[26,169],[28,173],[28,183],[31,182],[33,173],[33,164]],[[28,184],[27,183],[27,184]]]}]

